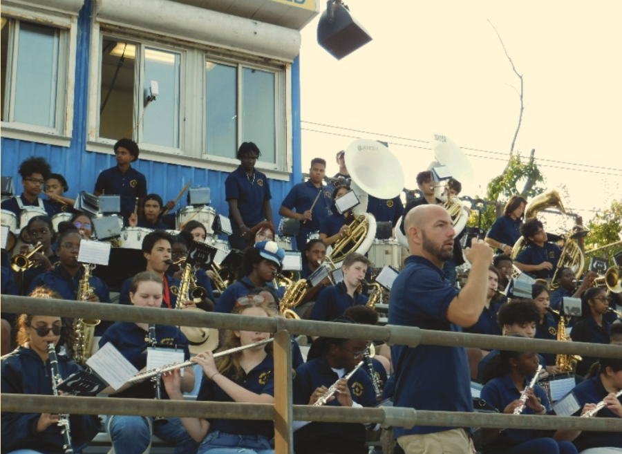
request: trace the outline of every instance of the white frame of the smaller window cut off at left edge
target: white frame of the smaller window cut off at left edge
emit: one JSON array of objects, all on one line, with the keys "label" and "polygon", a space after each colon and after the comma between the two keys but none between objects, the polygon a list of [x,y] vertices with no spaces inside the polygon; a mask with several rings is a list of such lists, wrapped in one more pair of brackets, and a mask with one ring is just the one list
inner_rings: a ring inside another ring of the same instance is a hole
[{"label": "white frame of the smaller window cut off at left edge", "polygon": [[[17,68],[7,59],[7,84],[10,85],[10,102],[7,112],[8,120],[0,123],[1,136],[28,142],[69,146],[73,132],[77,15],[3,5],[2,17],[15,21],[15,30],[12,32],[13,37],[9,43],[12,48],[8,48],[9,55],[7,58],[10,57],[18,44],[16,36],[19,32],[19,23],[23,22],[59,29],[59,56],[54,128],[10,121],[15,108],[15,84],[13,82],[15,82],[14,76]],[[7,23],[6,26],[10,26],[10,24]]]}]

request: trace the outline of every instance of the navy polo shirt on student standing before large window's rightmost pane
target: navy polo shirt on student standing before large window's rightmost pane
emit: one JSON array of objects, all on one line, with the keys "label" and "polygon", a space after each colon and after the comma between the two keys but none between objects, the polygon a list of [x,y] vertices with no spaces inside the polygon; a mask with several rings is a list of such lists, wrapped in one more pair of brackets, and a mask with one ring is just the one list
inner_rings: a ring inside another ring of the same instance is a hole
[{"label": "navy polo shirt on student standing before large window's rightmost pane", "polygon": [[[255,169],[250,180],[242,166],[229,173],[225,180],[226,200],[238,200],[238,210],[244,224],[250,228],[265,220],[263,212],[264,200],[270,200],[270,184],[266,176]],[[231,214],[229,214],[231,216]],[[232,223],[234,229],[239,229],[236,223]]]}]

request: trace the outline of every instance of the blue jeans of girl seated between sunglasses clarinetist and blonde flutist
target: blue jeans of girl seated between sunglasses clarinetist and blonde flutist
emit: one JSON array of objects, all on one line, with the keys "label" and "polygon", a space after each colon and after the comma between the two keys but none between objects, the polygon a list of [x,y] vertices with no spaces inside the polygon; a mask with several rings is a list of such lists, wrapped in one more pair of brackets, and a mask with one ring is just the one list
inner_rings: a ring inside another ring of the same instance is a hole
[{"label": "blue jeans of girl seated between sunglasses clarinetist and blonde flutist", "polygon": [[117,454],[143,454],[151,444],[151,431],[165,442],[175,443],[175,454],[195,454],[198,446],[186,432],[179,418],[154,425],[153,417],[113,415],[106,417],[109,433]]}]

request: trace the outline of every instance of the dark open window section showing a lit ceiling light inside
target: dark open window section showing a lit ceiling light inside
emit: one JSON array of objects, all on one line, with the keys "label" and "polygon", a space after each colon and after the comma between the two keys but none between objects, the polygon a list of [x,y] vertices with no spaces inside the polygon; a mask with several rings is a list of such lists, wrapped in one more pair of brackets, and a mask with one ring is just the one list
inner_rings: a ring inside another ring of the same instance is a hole
[{"label": "dark open window section showing a lit ceiling light inside", "polygon": [[104,38],[100,86],[100,137],[131,137],[134,125],[135,44]]}]

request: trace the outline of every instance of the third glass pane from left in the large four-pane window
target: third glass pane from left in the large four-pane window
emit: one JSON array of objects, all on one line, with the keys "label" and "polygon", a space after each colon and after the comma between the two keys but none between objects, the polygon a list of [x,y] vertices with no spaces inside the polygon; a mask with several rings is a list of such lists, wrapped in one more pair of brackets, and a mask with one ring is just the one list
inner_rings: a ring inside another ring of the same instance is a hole
[{"label": "third glass pane from left in the large four-pane window", "polygon": [[206,153],[236,157],[236,68],[207,62],[205,70]]}]

